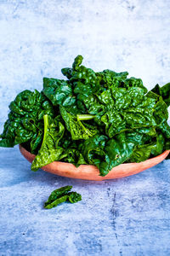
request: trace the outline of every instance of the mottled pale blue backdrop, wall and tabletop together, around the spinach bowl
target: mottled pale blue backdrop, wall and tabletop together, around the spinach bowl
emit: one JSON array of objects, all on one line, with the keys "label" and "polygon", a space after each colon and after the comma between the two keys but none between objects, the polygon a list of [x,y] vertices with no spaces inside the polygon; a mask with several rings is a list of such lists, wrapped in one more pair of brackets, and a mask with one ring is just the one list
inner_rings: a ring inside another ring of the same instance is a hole
[{"label": "mottled pale blue backdrop, wall and tabletop together, around the spinach bowl", "polygon": [[[170,81],[168,0],[0,0],[0,129],[20,90],[41,90],[81,54],[99,71],[128,71],[151,88]],[[170,255],[169,160],[104,183],[39,171],[0,149],[1,255]],[[45,211],[56,187],[82,201]]]}]

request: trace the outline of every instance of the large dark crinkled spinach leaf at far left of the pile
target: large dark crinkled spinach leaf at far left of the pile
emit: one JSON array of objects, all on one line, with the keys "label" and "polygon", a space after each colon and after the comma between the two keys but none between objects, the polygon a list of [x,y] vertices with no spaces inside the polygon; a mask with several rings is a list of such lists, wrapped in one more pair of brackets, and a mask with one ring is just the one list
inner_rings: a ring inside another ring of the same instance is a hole
[{"label": "large dark crinkled spinach leaf at far left of the pile", "polygon": [[52,104],[37,90],[24,90],[10,103],[9,109],[0,146],[14,147],[30,141],[31,153],[35,153],[42,142],[43,115],[54,116]]}]

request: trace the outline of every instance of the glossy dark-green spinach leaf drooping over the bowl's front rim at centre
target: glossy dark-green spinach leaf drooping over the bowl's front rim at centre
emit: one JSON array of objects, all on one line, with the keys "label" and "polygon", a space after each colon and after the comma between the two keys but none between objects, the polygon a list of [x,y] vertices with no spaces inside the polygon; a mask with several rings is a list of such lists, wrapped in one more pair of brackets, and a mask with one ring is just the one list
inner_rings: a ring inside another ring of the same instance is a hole
[{"label": "glossy dark-green spinach leaf drooping over the bowl's front rim at centre", "polygon": [[[122,164],[133,154],[135,143],[127,139],[126,133],[118,134],[114,139],[96,135],[81,145],[82,154],[91,165],[99,168],[105,176],[114,166]],[[114,148],[114,150],[113,150]]]}]

